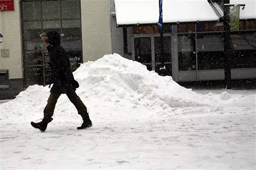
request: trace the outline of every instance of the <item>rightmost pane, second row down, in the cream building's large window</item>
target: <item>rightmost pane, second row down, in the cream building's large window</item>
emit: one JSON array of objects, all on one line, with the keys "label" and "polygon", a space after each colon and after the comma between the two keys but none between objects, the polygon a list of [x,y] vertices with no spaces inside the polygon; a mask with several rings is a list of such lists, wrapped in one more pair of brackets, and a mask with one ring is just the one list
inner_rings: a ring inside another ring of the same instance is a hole
[{"label": "rightmost pane, second row down, in the cream building's large window", "polygon": [[64,37],[81,37],[80,19],[64,20],[62,24]]}]

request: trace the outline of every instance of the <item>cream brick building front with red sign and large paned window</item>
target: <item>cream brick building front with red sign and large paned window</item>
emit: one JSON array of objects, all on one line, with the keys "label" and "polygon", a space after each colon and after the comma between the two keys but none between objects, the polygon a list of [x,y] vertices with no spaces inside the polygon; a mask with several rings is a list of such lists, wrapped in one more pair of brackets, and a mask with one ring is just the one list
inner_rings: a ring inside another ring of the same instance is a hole
[{"label": "cream brick building front with red sign and large paned window", "polygon": [[0,99],[14,98],[29,85],[50,80],[49,54],[39,34],[56,30],[71,69],[112,52],[107,0],[8,0],[0,6]]}]

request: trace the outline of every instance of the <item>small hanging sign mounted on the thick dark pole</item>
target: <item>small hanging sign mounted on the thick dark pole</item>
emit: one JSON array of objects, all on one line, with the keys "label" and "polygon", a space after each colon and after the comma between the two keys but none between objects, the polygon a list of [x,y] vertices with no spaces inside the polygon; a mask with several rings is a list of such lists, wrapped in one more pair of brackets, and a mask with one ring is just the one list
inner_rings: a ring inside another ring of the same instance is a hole
[{"label": "small hanging sign mounted on the thick dark pole", "polygon": [[239,31],[240,5],[230,10],[230,31]]}]

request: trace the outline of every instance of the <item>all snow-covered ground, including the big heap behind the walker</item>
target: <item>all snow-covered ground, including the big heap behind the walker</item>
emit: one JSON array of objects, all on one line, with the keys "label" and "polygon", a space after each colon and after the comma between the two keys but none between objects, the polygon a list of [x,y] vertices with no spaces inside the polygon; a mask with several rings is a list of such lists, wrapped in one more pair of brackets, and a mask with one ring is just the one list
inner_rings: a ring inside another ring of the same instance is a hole
[{"label": "all snow-covered ground, including the big heap behind the walker", "polygon": [[1,169],[255,169],[256,91],[197,90],[117,54],[74,72],[93,127],[63,94],[45,132],[48,87],[0,105]]}]

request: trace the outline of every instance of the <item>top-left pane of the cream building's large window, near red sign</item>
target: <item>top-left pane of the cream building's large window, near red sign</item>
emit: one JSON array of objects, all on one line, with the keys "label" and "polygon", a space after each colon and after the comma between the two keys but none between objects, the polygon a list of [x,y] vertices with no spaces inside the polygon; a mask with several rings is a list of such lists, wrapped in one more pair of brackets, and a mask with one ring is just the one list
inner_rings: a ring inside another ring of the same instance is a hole
[{"label": "top-left pane of the cream building's large window, near red sign", "polygon": [[22,16],[24,20],[41,19],[41,2],[23,2]]}]

